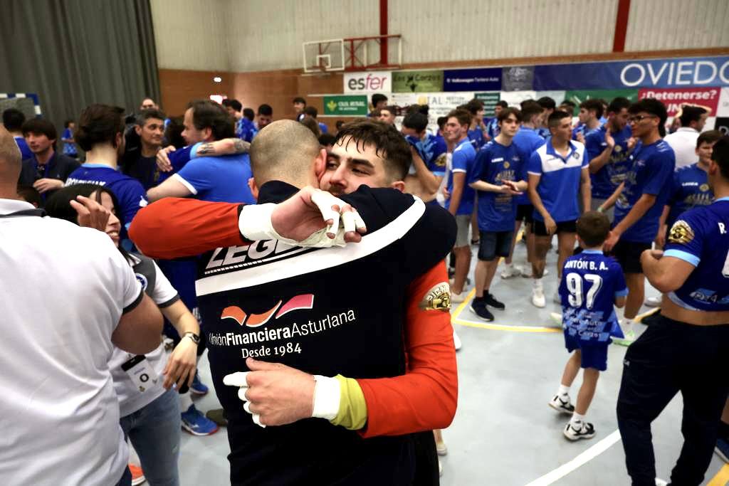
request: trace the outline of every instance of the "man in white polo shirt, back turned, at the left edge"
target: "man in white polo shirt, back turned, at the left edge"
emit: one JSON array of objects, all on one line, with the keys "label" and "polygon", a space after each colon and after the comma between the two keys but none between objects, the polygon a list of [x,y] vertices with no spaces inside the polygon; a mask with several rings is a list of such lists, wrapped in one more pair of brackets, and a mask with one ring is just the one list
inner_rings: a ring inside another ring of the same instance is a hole
[{"label": "man in white polo shirt, back turned, at the left edge", "polygon": [[[107,361],[114,345],[155,349],[162,316],[108,235],[41,217],[17,200],[19,175],[20,151],[0,128],[0,478],[129,484]],[[106,224],[103,208],[85,204]],[[79,211],[89,213],[85,205]]]}]

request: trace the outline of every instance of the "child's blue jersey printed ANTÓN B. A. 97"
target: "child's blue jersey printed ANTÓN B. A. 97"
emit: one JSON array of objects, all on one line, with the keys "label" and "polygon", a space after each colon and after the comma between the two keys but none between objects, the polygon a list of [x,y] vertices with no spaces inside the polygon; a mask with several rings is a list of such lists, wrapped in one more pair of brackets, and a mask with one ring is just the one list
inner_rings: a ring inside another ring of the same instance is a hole
[{"label": "child's blue jersey printed ANT\u00d3N B. A. 97", "polygon": [[564,262],[559,297],[562,326],[582,341],[609,342],[623,337],[617,324],[616,297],[628,295],[620,264],[599,250],[585,250]]}]

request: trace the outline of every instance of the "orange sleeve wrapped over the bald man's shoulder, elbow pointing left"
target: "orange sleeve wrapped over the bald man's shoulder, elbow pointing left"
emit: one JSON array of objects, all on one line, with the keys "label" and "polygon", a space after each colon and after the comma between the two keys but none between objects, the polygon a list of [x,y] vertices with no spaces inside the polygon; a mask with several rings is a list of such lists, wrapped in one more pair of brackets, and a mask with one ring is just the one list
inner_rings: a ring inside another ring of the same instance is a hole
[{"label": "orange sleeve wrapped over the bald man's shoulder, elbow pointing left", "polygon": [[165,197],[136,213],[129,238],[143,254],[162,259],[241,245],[245,242],[238,230],[241,206]]}]

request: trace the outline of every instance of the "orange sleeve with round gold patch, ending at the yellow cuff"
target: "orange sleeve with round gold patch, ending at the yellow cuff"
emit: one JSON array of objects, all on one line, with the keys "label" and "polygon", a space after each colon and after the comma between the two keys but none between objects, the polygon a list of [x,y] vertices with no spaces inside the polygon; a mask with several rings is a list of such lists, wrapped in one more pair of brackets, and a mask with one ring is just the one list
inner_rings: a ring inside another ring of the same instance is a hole
[{"label": "orange sleeve with round gold patch, ending at the yellow cuff", "polygon": [[408,289],[405,375],[357,380],[367,402],[367,426],[359,431],[365,438],[446,428],[456,415],[458,372],[451,313],[420,307],[440,283],[447,289],[445,262],[432,267]]}]

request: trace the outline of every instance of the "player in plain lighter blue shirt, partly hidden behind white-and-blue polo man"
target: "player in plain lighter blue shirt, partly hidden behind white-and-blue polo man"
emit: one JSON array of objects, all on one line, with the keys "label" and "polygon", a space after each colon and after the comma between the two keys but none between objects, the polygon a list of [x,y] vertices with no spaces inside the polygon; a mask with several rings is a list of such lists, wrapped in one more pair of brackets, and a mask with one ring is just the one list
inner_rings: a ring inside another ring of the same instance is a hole
[{"label": "player in plain lighter blue shirt, partly hidden behind white-and-blue polo man", "polygon": [[[521,128],[514,136],[514,145],[516,146],[519,157],[523,162],[523,166],[529,163],[531,154],[540,146],[545,144],[545,139],[537,134],[537,127],[542,124],[542,115],[544,109],[536,101],[525,101],[521,103]],[[523,267],[514,267],[512,264],[512,256],[514,254],[514,245],[516,238],[512,238],[511,251],[509,256],[504,260],[504,270],[502,270],[502,278],[511,278],[519,274],[524,277],[531,277],[531,259],[534,256],[534,231],[532,230],[532,222],[534,222],[534,206],[529,200],[529,193],[524,191],[522,195],[514,197],[516,201],[516,221],[514,222],[514,234],[518,234],[521,228],[521,222],[524,222],[524,238],[526,239],[526,265]]]}]

